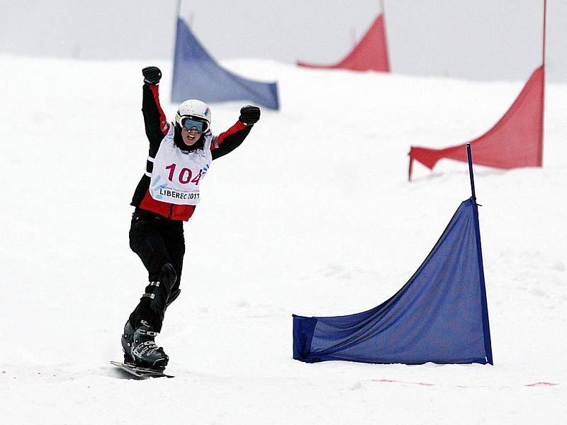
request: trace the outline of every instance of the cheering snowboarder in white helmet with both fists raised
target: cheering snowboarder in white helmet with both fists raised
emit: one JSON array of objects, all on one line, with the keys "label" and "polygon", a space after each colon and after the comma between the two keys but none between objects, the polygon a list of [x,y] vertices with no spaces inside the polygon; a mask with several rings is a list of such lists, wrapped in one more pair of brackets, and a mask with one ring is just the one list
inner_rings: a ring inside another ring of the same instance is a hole
[{"label": "cheering snowboarder in white helmet with both fists raised", "polygon": [[185,254],[183,222],[199,201],[201,181],[210,163],[245,140],[260,118],[257,106],[244,106],[231,128],[215,136],[210,108],[196,99],[179,106],[168,123],[159,104],[157,67],[142,69],[142,114],[150,141],[145,174],[135,189],[130,249],[144,263],[149,283],[122,334],[125,363],[164,370],[169,357],[155,343],[167,307],[179,296]]}]

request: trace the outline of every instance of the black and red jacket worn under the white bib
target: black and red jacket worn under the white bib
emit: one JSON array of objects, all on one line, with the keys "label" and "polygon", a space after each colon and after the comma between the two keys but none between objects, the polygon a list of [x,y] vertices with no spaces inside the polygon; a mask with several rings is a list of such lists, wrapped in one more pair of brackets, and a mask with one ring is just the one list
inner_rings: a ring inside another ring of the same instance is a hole
[{"label": "black and red jacket worn under the white bib", "polygon": [[[144,84],[142,96],[142,113],[144,115],[145,130],[147,140],[150,140],[149,156],[155,158],[157,149],[161,144],[164,136],[167,135],[169,125],[165,118],[162,106],[159,104],[159,87],[155,84]],[[238,120],[235,125],[225,132],[220,133],[218,136],[213,137],[213,142],[210,145],[213,161],[222,157],[242,144],[246,136],[250,132],[252,125],[246,125]],[[176,128],[176,132],[179,129]],[[179,135],[176,135],[179,137]],[[147,162],[147,173],[152,172],[152,162]],[[184,220],[187,221],[193,215],[195,205],[175,205],[172,203],[162,202],[155,200],[150,195],[148,189],[150,188],[150,177],[144,174],[140,183],[137,183],[134,196],[132,197],[133,205],[142,210],[155,212],[170,220]]]}]

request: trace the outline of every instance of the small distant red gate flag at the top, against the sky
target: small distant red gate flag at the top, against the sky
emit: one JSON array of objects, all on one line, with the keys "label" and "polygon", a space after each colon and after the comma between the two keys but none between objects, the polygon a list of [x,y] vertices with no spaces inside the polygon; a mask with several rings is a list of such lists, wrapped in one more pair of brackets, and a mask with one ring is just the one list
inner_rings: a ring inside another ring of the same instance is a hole
[{"label": "small distant red gate flag at the top, against the sky", "polygon": [[316,65],[298,61],[297,64],[308,68],[390,72],[383,15],[376,18],[359,44],[341,62],[335,65]]}]

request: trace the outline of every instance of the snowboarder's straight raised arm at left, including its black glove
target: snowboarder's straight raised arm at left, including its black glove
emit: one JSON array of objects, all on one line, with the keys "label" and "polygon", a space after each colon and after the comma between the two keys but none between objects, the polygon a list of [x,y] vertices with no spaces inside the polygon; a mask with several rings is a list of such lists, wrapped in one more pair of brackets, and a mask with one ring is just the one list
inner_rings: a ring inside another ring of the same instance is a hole
[{"label": "snowboarder's straight raised arm at left, including its black glove", "polygon": [[159,104],[159,79],[162,72],[157,67],[142,69],[144,86],[142,88],[142,114],[147,140],[150,140],[150,155],[155,156],[159,143],[167,135],[169,123],[165,118],[162,106]]}]

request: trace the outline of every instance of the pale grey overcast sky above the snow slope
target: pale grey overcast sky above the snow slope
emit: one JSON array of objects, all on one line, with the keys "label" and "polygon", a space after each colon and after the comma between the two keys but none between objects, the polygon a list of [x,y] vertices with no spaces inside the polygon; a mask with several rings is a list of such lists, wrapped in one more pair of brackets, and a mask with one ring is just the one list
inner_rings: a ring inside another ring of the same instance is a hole
[{"label": "pale grey overcast sky above the snow slope", "polygon": [[[172,57],[176,0],[0,0],[0,53]],[[384,0],[393,72],[527,79],[541,63],[544,0]],[[356,6],[353,6],[356,5]],[[217,60],[334,63],[381,0],[188,1],[181,16]],[[567,81],[567,1],[548,0],[547,75]]]}]

